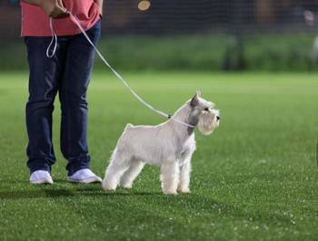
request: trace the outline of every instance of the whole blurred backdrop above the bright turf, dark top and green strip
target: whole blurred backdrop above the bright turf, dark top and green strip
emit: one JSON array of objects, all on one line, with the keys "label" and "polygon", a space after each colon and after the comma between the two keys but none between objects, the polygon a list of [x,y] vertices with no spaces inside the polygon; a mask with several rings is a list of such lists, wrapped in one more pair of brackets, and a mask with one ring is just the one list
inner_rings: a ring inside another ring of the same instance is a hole
[{"label": "whole blurred backdrop above the bright turf, dark top and green strip", "polygon": [[[146,11],[138,9],[140,2],[104,1],[100,48],[118,68],[317,69],[316,21],[304,17],[316,16],[316,0],[149,0]],[[19,37],[19,1],[2,1],[0,9],[1,68],[25,68],[23,61],[10,58],[10,53],[19,59],[25,54]],[[124,56],[141,62],[128,63]]]}]

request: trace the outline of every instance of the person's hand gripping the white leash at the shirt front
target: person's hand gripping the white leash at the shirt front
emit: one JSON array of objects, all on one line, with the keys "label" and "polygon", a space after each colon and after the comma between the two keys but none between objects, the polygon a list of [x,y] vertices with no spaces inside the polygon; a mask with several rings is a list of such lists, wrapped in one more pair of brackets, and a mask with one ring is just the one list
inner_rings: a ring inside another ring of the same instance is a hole
[{"label": "person's hand gripping the white leash at the shirt front", "polygon": [[62,0],[42,0],[39,5],[45,11],[45,14],[48,14],[50,17],[63,18],[68,16],[67,9],[63,5]]}]

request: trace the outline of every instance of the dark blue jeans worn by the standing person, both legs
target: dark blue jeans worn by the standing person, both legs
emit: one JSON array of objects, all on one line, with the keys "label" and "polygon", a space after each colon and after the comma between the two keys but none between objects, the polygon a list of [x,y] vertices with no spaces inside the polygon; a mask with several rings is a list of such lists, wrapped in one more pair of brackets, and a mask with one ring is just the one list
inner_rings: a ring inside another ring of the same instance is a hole
[{"label": "dark blue jeans worn by the standing person, both legs", "polygon": [[[87,32],[94,43],[101,33],[99,21]],[[68,160],[66,169],[72,175],[89,168],[86,91],[94,63],[94,49],[84,34],[58,37],[53,58],[46,57],[51,37],[25,37],[30,68],[29,98],[26,103],[28,134],[27,166],[51,171],[55,163],[52,143],[52,113],[56,93],[61,102],[61,150]]]}]

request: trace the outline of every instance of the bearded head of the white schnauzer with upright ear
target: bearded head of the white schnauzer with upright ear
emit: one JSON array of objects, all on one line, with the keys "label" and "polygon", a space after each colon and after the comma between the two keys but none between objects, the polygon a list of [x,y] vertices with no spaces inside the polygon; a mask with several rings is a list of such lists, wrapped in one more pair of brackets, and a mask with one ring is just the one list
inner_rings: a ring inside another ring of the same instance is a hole
[{"label": "bearded head of the white schnauzer with upright ear", "polygon": [[220,124],[220,111],[214,108],[213,102],[201,98],[200,92],[196,92],[188,104],[191,107],[190,122],[197,124],[204,135],[210,135]]}]

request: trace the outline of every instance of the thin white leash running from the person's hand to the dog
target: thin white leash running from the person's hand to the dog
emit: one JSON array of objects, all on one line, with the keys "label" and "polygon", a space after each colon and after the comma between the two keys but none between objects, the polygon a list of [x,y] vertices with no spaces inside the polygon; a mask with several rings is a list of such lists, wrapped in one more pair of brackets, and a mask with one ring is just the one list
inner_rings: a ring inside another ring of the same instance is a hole
[{"label": "thin white leash running from the person's hand to the dog", "polygon": [[[195,128],[194,125],[185,123],[182,120],[177,120],[174,119],[170,114],[164,113],[163,111],[159,111],[156,110],[152,105],[150,105],[149,103],[147,103],[146,101],[144,101],[136,92],[134,92],[133,88],[128,84],[128,82],[126,82],[124,80],[124,78],[114,70],[114,68],[110,65],[110,63],[108,63],[103,54],[99,52],[99,50],[97,49],[97,47],[94,45],[94,43],[92,42],[92,40],[89,38],[89,36],[86,34],[84,28],[82,27],[82,25],[79,23],[78,19],[76,18],[76,16],[70,12],[68,12],[68,14],[70,14],[70,18],[71,20],[76,24],[76,26],[79,28],[79,30],[82,32],[82,34],[84,34],[84,37],[86,38],[86,40],[88,41],[88,43],[90,43],[92,45],[92,47],[94,48],[94,51],[98,54],[98,56],[101,58],[101,60],[104,62],[104,64],[112,71],[114,72],[114,75],[116,75],[116,77],[124,83],[124,86],[134,95],[134,97],[140,101],[142,104],[144,104],[145,107],[147,107],[148,109],[150,109],[151,111],[154,111],[155,113],[164,116],[167,119],[171,119],[174,120],[177,123],[183,124],[184,126],[190,127],[190,128]],[[48,45],[47,50],[46,50],[46,56],[48,58],[52,58],[55,55],[56,52],[56,47],[57,47],[57,36],[55,34],[55,30],[53,27],[53,20],[52,17],[50,17],[50,29],[51,29],[51,33],[52,33],[52,41],[51,43]],[[51,45],[55,42],[55,46],[53,48],[53,52],[51,54],[49,54],[49,50],[51,48]]]}]

